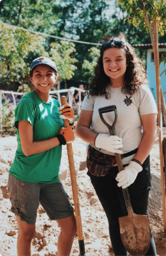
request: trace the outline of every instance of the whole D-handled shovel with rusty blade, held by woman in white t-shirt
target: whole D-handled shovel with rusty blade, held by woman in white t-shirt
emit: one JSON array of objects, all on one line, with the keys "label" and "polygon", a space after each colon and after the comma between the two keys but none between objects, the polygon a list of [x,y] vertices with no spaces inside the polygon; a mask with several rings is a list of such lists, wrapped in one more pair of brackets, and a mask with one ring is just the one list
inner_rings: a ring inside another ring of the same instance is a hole
[{"label": "whole D-handled shovel with rusty blade, held by woman in white t-shirt", "polygon": [[[99,115],[103,123],[109,129],[110,135],[116,135],[115,124],[117,121],[117,108],[115,105],[102,107],[98,109]],[[115,112],[115,119],[112,125],[108,124],[103,118],[103,113]],[[117,162],[118,171],[122,171],[123,164],[121,155],[115,153],[115,159]],[[150,230],[149,221],[146,215],[134,214],[128,189],[122,189],[123,196],[125,199],[125,204],[127,208],[128,215],[119,217],[120,225],[120,236],[122,244],[125,249],[131,254],[136,256],[143,256],[149,249],[150,245]]]}]

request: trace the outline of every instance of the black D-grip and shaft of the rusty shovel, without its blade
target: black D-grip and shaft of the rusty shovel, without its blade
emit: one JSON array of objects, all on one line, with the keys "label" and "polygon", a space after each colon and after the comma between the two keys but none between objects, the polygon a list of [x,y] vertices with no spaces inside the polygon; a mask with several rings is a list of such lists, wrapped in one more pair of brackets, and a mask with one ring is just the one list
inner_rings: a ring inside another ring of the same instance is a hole
[{"label": "black D-grip and shaft of the rusty shovel, without its blade", "polygon": [[[105,119],[103,117],[103,113],[113,112],[113,111],[115,113],[115,119],[114,119],[112,125],[110,125],[105,121]],[[116,108],[116,106],[111,105],[111,106],[107,106],[107,107],[101,107],[100,109],[98,109],[98,112],[99,112],[101,120],[107,126],[110,135],[116,135],[116,132],[115,132],[115,124],[117,122],[117,108]],[[117,162],[118,171],[120,172],[120,171],[123,170],[121,154],[115,153],[115,159],[116,159],[116,162]],[[130,198],[129,198],[129,191],[126,188],[126,189],[122,189],[122,192],[123,192],[123,196],[124,196],[124,199],[125,199],[127,212],[128,212],[129,215],[131,215],[131,214],[133,214],[133,210],[132,210],[132,205],[131,205],[131,201],[130,201]]]}]

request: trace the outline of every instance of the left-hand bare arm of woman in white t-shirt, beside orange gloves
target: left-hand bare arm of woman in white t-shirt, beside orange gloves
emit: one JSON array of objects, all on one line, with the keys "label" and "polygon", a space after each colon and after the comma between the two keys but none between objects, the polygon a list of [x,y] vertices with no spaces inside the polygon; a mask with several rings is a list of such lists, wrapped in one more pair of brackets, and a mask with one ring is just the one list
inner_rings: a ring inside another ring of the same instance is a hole
[{"label": "left-hand bare arm of woman in white t-shirt, beside orange gloves", "polygon": [[85,142],[94,144],[97,134],[90,130],[93,111],[81,110],[76,126],[76,135]]}]

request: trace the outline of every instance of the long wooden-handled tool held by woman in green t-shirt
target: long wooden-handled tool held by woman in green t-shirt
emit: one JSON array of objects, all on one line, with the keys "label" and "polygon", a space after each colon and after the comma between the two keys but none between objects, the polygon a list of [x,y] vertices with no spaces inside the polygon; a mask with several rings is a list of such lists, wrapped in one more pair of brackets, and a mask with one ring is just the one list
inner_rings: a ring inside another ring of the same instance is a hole
[{"label": "long wooden-handled tool held by woman in green t-shirt", "polygon": [[[63,106],[64,104],[66,104],[66,97],[61,96],[61,106]],[[64,124],[64,127],[67,127],[69,125],[68,120],[64,119],[63,124]],[[76,214],[78,244],[80,249],[79,255],[84,256],[85,246],[84,246],[83,229],[82,229],[82,223],[81,223],[81,212],[80,212],[80,204],[79,204],[78,190],[77,190],[76,171],[75,171],[74,159],[73,159],[73,149],[72,149],[71,143],[66,144],[66,146],[67,146],[67,152],[68,152],[68,164],[69,164],[70,176],[71,176],[71,186],[73,191],[74,210]]]}]

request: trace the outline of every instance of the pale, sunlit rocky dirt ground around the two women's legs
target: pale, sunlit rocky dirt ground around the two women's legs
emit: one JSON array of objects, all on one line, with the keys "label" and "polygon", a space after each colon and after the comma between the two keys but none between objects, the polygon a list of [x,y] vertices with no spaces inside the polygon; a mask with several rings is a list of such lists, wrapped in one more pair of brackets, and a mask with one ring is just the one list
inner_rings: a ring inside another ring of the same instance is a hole
[{"label": "pale, sunlit rocky dirt ground around the two women's legs", "polygon": [[[86,144],[81,139],[76,138],[72,146],[81,208],[85,254],[86,256],[114,255],[111,249],[105,213],[86,174],[87,168],[85,166],[80,168],[80,163],[86,159]],[[0,254],[2,256],[17,255],[17,222],[14,214],[10,211],[10,200],[7,194],[8,170],[14,159],[16,147],[17,141],[15,136],[0,137]],[[61,181],[73,204],[66,146],[63,146],[60,169]],[[149,223],[156,242],[157,254],[164,256],[166,255],[166,233],[164,232],[162,219],[159,144],[157,140],[151,150],[151,178],[153,188],[149,196]],[[56,221],[50,221],[40,205],[37,214],[36,233],[32,241],[32,255],[56,255],[59,232],[60,229]],[[78,254],[78,237],[76,236],[71,255],[75,256]]]}]

